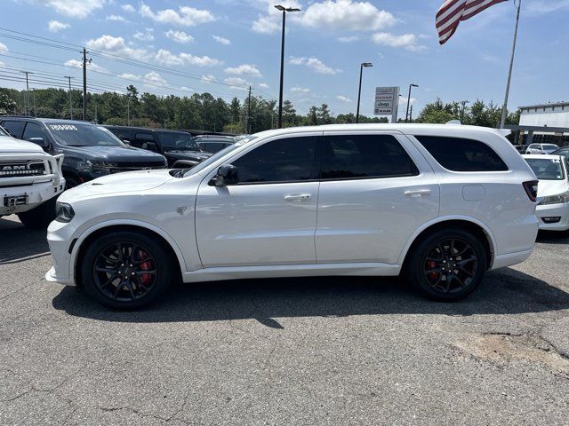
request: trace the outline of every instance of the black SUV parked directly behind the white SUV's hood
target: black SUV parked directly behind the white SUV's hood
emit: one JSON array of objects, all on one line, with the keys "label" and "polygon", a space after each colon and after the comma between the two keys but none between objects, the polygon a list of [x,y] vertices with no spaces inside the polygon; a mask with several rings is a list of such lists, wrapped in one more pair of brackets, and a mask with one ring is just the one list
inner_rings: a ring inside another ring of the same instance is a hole
[{"label": "black SUV parked directly behind the white SUV's hood", "polygon": [[203,153],[192,136],[185,131],[148,129],[145,127],[105,126],[117,138],[131,146],[163,154],[168,167],[191,168],[212,154]]}]

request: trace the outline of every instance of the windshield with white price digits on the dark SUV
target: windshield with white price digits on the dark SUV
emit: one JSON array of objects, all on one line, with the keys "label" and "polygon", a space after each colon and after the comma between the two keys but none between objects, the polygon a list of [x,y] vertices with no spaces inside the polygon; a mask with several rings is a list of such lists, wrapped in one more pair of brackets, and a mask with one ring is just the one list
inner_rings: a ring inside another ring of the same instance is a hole
[{"label": "windshield with white price digits on the dark SUV", "polygon": [[90,123],[51,122],[47,125],[53,138],[67,146],[125,146],[104,127]]}]

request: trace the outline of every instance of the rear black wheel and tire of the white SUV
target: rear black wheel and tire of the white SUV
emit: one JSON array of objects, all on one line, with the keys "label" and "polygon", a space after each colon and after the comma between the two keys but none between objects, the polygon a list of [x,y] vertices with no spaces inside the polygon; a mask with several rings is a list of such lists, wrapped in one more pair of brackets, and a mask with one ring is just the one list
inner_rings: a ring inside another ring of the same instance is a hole
[{"label": "rear black wheel and tire of the white SUV", "polygon": [[[453,264],[449,270],[448,264]],[[469,296],[484,280],[487,255],[472,233],[449,228],[429,233],[413,248],[405,278],[431,299],[451,302]]]}]

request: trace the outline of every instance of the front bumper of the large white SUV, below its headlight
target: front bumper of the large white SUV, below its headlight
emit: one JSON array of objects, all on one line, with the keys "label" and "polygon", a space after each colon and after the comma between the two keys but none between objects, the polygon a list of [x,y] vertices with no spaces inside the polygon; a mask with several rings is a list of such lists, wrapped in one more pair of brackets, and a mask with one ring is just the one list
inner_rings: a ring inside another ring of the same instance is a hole
[{"label": "front bumper of the large white SUV, below its headlight", "polygon": [[45,274],[45,280],[75,286],[75,273],[69,253],[76,228],[71,223],[53,221],[47,228],[47,242],[52,253],[52,269]]}]

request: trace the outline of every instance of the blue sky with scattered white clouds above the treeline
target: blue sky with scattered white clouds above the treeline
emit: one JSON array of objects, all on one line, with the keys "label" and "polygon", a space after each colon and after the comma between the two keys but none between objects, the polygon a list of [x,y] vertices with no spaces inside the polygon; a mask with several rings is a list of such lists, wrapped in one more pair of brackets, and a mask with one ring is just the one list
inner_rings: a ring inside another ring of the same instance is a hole
[{"label": "blue sky with scattered white clouds above the treeline", "polygon": [[[284,99],[306,114],[327,104],[333,115],[373,115],[376,86],[410,83],[414,115],[437,97],[502,104],[513,40],[513,0],[461,22],[440,46],[435,15],[444,0],[2,0],[0,86],[82,79],[80,47],[92,59],[93,91],[277,99],[282,17],[275,4],[299,7],[286,19]],[[6,19],[8,18],[9,19]],[[509,108],[569,100],[569,0],[523,0]],[[9,31],[7,31],[9,30]],[[21,40],[29,36],[41,43]],[[57,42],[57,43],[55,43]],[[63,44],[67,43],[67,44]],[[63,46],[65,49],[60,49]],[[111,56],[109,56],[111,55]],[[127,60],[124,60],[127,59]],[[43,74],[41,74],[43,73]],[[14,77],[16,76],[16,77]],[[62,82],[62,83],[59,83]],[[406,99],[399,116],[405,117]]]}]

